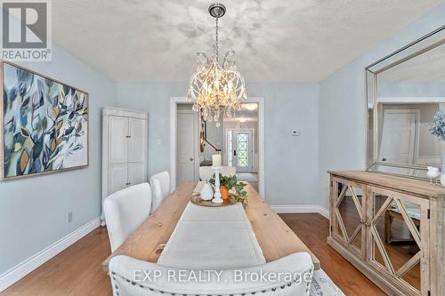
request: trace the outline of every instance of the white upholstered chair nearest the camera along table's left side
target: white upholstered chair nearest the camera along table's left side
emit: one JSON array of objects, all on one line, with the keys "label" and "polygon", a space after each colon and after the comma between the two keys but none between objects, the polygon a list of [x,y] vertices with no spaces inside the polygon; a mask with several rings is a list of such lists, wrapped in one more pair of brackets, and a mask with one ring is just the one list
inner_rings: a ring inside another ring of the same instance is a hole
[{"label": "white upholstered chair nearest the camera along table's left side", "polygon": [[109,244],[114,252],[125,239],[150,215],[151,188],[149,183],[119,190],[105,198],[103,213],[107,221]]}]

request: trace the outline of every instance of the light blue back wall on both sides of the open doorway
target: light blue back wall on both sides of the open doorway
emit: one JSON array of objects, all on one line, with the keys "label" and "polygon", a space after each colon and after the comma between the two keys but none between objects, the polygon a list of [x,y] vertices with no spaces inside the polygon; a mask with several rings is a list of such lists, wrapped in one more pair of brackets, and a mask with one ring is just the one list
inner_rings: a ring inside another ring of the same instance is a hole
[{"label": "light blue back wall on both sides of the open doorway", "polygon": [[[169,100],[187,84],[117,84],[117,105],[142,109],[149,119],[149,175],[169,171]],[[270,204],[318,204],[319,85],[248,84],[265,108],[265,189]],[[300,137],[292,137],[293,130]]]}]

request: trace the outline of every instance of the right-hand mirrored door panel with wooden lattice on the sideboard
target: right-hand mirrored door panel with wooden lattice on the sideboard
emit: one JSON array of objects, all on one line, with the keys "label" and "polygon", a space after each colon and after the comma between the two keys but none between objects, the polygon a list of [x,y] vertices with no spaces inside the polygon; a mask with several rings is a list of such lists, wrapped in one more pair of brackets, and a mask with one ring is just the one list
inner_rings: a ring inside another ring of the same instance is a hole
[{"label": "right-hand mirrored door panel with wooden lattice on the sideboard", "polygon": [[373,189],[370,260],[420,292],[421,204]]}]

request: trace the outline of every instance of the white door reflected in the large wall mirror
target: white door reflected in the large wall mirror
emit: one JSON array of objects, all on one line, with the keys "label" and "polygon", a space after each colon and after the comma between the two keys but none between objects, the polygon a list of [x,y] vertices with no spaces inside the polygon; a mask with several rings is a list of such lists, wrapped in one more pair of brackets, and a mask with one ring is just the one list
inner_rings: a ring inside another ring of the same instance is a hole
[{"label": "white door reflected in the large wall mirror", "polygon": [[384,111],[379,160],[395,164],[415,164],[419,110]]}]

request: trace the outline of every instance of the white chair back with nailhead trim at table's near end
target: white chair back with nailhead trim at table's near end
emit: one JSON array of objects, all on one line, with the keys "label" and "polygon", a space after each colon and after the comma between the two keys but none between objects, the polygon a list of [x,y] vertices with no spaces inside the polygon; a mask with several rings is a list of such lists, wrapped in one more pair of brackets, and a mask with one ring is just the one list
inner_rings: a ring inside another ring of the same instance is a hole
[{"label": "white chair back with nailhead trim at table's near end", "polygon": [[[253,268],[227,269],[216,276],[206,270],[167,268],[127,256],[109,262],[113,295],[262,295],[307,296],[312,283],[313,265],[307,252],[298,252]],[[181,276],[209,275],[205,281],[181,281]],[[265,276],[262,275],[276,275]],[[147,276],[149,275],[149,276]],[[155,278],[155,275],[158,277]],[[176,276],[177,280],[174,280]],[[256,277],[258,276],[258,277]],[[208,279],[208,280],[207,280]]]}]

